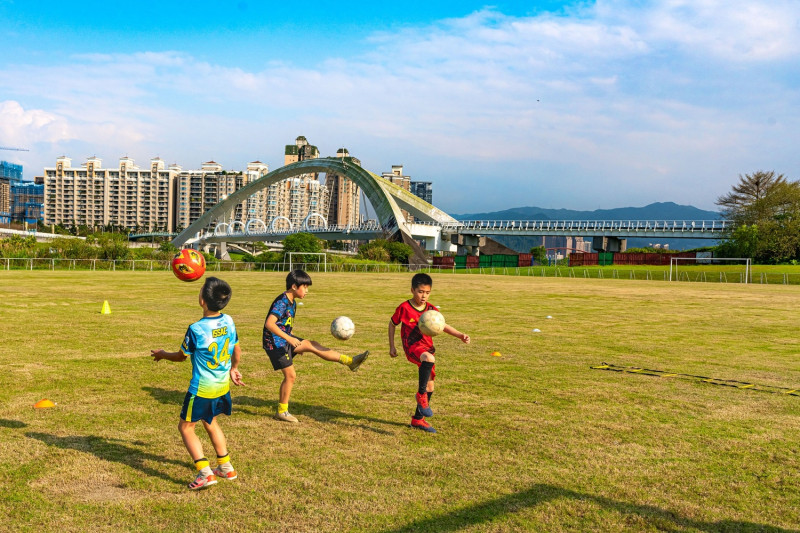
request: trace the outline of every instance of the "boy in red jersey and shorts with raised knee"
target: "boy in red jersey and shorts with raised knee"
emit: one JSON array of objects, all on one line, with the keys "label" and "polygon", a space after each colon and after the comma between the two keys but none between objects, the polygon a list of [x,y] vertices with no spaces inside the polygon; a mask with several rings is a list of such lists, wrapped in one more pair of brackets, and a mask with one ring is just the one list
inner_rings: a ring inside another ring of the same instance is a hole
[{"label": "boy in red jersey and shorts with raised knee", "polygon": [[[436,433],[436,430],[425,421],[426,416],[433,416],[429,402],[433,395],[433,381],[436,378],[436,358],[433,355],[436,353],[436,348],[433,347],[433,339],[424,335],[419,329],[419,317],[422,313],[429,309],[438,311],[435,306],[428,303],[432,286],[433,280],[428,274],[414,274],[411,278],[411,299],[397,306],[389,321],[389,355],[397,357],[394,332],[395,328],[402,324],[400,338],[403,341],[403,351],[406,353],[406,358],[419,367],[417,410],[411,417],[411,427]],[[444,332],[469,344],[469,335],[461,333],[450,325],[445,326]]]}]

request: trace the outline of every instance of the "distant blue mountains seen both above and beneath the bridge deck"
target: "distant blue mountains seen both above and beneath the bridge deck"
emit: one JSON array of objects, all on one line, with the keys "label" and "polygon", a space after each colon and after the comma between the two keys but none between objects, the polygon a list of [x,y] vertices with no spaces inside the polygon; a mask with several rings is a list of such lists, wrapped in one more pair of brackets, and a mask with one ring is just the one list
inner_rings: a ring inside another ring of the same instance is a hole
[{"label": "distant blue mountains seen both above and beneath the bridge deck", "polygon": [[[678,205],[674,202],[658,202],[644,207],[618,207],[595,211],[514,207],[491,213],[468,213],[452,216],[457,220],[718,220],[720,218],[720,214],[716,211],[705,211],[691,205]],[[527,252],[533,246],[542,244],[542,237],[501,235],[493,238],[519,252]],[[714,246],[717,243],[716,239],[636,238],[628,239],[628,248],[648,247],[655,242],[662,246],[667,245],[672,250]]]}]

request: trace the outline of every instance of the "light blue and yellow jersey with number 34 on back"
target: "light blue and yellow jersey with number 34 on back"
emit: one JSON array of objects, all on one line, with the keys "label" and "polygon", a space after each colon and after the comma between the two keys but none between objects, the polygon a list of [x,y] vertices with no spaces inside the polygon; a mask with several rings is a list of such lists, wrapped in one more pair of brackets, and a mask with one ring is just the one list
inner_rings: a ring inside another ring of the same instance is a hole
[{"label": "light blue and yellow jersey with number 34 on back", "polygon": [[236,326],[228,315],[203,317],[189,326],[181,353],[192,361],[191,394],[218,398],[230,390],[231,355],[237,344]]}]

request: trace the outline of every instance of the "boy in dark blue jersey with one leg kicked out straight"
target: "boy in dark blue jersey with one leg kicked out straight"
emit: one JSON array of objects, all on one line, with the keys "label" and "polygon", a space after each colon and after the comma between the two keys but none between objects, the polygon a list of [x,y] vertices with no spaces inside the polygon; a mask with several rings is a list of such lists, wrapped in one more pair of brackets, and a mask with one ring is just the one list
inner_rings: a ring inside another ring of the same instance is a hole
[{"label": "boy in dark blue jersey with one leg kicked out straight", "polygon": [[326,361],[343,364],[353,372],[358,370],[358,367],[369,355],[369,352],[366,351],[350,357],[326,348],[316,341],[301,339],[292,334],[294,317],[297,312],[297,299],[305,298],[310,286],[311,276],[305,271],[289,272],[289,275],[286,276],[286,291],[272,302],[264,321],[262,345],[272,362],[272,368],[283,372],[278,412],[275,414],[275,418],[283,422],[299,422],[297,418],[289,414],[289,396],[292,394],[292,387],[297,378],[293,362],[296,355],[311,352]]}]

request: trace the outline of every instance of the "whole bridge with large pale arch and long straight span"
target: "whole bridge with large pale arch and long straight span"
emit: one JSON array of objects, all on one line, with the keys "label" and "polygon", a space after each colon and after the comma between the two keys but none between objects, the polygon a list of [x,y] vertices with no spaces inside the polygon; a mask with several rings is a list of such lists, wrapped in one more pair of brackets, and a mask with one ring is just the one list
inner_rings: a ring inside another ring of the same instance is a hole
[{"label": "whole bridge with large pale arch and long straight span", "polygon": [[[236,205],[249,196],[284,179],[314,172],[351,179],[364,191],[378,220],[354,226],[329,226],[322,215],[310,213],[300,228],[293,227],[286,217],[276,217],[269,225],[255,219],[229,222]],[[405,219],[403,209],[414,216],[414,222]],[[214,222],[214,230],[207,231]],[[462,246],[471,252],[482,244],[482,238],[494,235],[581,236],[592,238],[595,249],[618,251],[620,247],[624,249],[626,238],[714,239],[724,236],[730,227],[731,223],[725,220],[459,221],[402,187],[352,163],[350,158],[327,157],[286,165],[242,187],[175,236],[172,244],[180,248],[218,243],[224,249],[227,242],[280,241],[303,231],[324,240],[400,240],[414,249],[410,258],[413,264],[426,264],[425,250],[418,241],[424,241],[426,250],[456,251],[458,246]]]}]

